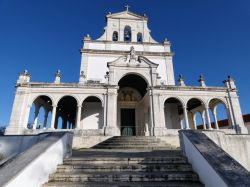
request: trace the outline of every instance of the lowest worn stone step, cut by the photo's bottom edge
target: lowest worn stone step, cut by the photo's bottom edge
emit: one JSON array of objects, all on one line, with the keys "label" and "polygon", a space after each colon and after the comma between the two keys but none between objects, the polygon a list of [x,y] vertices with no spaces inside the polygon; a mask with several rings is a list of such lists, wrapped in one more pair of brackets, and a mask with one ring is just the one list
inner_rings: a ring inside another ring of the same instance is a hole
[{"label": "lowest worn stone step, cut by the photo's bottom edge", "polygon": [[200,182],[50,182],[43,187],[203,187]]}]

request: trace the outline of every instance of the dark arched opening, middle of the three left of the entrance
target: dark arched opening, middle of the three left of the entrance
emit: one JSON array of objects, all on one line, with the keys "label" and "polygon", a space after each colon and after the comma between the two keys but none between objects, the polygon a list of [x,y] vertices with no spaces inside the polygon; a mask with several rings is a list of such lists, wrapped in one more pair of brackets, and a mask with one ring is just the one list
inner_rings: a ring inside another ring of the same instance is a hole
[{"label": "dark arched opening, middle of the three left of the entrance", "polygon": [[64,96],[59,100],[54,124],[55,129],[75,128],[76,107],[77,100],[72,96]]}]

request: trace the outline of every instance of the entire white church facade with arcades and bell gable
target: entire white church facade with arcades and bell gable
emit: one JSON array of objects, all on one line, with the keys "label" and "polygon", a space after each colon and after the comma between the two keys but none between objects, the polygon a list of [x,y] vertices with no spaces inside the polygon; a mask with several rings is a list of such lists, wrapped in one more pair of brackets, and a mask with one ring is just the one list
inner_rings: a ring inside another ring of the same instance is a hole
[{"label": "entire white church facade with arcades and bell gable", "polygon": [[[164,136],[170,129],[219,129],[217,105],[223,104],[228,128],[247,133],[234,80],[224,87],[175,83],[173,53],[168,40],[156,42],[148,18],[128,9],[106,15],[104,34],[84,37],[79,82],[31,82],[27,71],[19,75],[6,134],[72,130],[98,136]],[[31,107],[34,119],[29,123]],[[45,111],[38,128],[40,109]],[[50,114],[50,118],[48,118]],[[61,124],[59,125],[59,118]],[[214,119],[214,127],[211,125]],[[60,126],[60,127],[59,127]]]}]

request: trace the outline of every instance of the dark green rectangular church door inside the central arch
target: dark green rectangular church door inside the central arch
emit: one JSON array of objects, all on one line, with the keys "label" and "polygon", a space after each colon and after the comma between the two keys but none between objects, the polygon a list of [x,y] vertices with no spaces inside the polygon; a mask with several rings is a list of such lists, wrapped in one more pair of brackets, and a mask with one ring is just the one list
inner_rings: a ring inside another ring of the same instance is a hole
[{"label": "dark green rectangular church door inside the central arch", "polygon": [[135,109],[121,108],[121,135],[135,136]]}]

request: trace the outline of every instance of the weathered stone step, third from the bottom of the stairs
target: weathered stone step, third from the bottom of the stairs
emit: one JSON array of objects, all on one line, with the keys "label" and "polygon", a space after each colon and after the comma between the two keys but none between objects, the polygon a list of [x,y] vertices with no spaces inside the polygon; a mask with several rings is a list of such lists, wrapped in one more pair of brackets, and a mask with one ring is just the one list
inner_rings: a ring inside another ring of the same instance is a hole
[{"label": "weathered stone step, third from the bottom of the stairs", "polygon": [[157,171],[192,171],[189,164],[81,164],[81,165],[59,165],[57,172],[109,172],[109,171],[142,171],[142,172],[157,172]]}]

